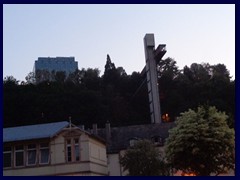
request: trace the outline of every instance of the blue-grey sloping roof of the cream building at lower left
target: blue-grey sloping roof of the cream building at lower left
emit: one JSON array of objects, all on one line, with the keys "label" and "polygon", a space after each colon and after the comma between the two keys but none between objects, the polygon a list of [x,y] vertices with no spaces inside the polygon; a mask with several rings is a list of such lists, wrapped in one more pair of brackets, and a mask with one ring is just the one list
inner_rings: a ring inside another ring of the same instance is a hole
[{"label": "blue-grey sloping roof of the cream building at lower left", "polygon": [[68,125],[69,122],[62,121],[48,124],[3,128],[3,142],[50,138]]}]

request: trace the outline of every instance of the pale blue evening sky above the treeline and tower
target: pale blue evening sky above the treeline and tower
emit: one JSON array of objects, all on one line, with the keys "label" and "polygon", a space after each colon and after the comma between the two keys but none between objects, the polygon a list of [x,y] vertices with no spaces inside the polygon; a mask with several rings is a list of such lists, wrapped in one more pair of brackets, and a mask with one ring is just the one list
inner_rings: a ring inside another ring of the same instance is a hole
[{"label": "pale blue evening sky above the treeline and tower", "polygon": [[38,57],[59,56],[103,74],[107,54],[127,74],[141,72],[146,33],[180,69],[221,63],[235,79],[233,4],[4,4],[3,77],[24,81]]}]

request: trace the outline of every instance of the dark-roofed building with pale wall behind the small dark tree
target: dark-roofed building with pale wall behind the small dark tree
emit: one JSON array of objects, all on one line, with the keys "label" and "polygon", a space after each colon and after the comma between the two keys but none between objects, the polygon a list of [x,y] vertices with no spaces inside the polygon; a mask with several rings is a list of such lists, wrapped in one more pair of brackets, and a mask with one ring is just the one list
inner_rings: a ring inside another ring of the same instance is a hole
[{"label": "dark-roofed building with pale wall behind the small dark tree", "polygon": [[105,128],[97,128],[94,124],[91,133],[107,142],[108,175],[125,176],[128,172],[123,170],[119,162],[120,156],[136,141],[143,139],[152,141],[164,155],[164,142],[169,135],[168,130],[174,126],[174,122],[122,127],[110,127],[110,123],[106,123]]}]

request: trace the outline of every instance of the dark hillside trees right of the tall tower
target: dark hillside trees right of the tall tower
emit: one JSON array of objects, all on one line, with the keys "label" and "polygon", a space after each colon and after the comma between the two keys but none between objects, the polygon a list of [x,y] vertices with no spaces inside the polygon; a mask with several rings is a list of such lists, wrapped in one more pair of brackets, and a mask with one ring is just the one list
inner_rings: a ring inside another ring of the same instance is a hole
[{"label": "dark hillside trees right of the tall tower", "polygon": [[160,62],[162,72],[159,77],[159,91],[162,114],[169,114],[173,121],[189,108],[208,104],[225,111],[228,125],[234,127],[235,81],[231,81],[225,65],[193,63],[181,71],[171,58]]}]

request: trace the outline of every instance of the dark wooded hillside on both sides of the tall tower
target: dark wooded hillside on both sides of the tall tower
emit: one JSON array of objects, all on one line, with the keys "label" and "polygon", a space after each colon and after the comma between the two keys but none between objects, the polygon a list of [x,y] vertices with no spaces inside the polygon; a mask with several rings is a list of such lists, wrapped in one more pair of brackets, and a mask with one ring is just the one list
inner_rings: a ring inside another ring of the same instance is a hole
[{"label": "dark wooded hillside on both sides of the tall tower", "polygon": [[[29,73],[22,83],[12,76],[4,78],[4,127],[69,118],[85,128],[94,123],[104,127],[106,122],[111,126],[151,122],[145,75],[127,75],[109,55],[102,76],[92,68],[68,76],[64,72],[38,73]],[[207,104],[225,111],[229,126],[234,127],[235,80],[224,64],[193,63],[180,70],[174,59],[167,58],[158,65],[158,81],[163,120],[174,121],[181,112]]]}]

